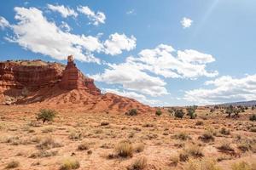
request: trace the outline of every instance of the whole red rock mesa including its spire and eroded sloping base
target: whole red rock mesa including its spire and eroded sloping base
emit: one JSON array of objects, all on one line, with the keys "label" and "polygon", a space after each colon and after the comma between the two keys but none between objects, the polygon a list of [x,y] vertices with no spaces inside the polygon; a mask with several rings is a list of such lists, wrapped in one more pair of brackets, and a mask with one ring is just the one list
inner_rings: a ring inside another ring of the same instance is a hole
[{"label": "whole red rock mesa including its spire and eroded sloping base", "polygon": [[68,56],[67,65],[42,60],[0,63],[0,101],[4,105],[80,107],[84,111],[152,111],[135,99],[101,94],[94,80],[85,77]]}]

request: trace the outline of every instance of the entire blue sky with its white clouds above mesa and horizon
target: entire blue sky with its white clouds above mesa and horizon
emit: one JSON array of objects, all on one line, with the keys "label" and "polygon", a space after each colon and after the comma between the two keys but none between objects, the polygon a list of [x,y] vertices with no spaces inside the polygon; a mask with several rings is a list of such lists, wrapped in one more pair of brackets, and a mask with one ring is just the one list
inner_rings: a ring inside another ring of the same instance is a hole
[{"label": "entire blue sky with its white clouds above mesa and horizon", "polygon": [[253,0],[7,1],[0,59],[79,69],[148,105],[256,99]]}]

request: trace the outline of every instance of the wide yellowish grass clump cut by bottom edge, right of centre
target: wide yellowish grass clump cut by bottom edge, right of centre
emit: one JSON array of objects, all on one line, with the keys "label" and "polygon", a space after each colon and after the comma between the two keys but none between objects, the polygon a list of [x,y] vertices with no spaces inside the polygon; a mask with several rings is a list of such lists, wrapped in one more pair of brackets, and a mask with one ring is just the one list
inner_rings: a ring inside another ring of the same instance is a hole
[{"label": "wide yellowish grass clump cut by bottom edge, right of centre", "polygon": [[189,159],[184,165],[184,170],[221,170],[212,159],[194,160]]}]

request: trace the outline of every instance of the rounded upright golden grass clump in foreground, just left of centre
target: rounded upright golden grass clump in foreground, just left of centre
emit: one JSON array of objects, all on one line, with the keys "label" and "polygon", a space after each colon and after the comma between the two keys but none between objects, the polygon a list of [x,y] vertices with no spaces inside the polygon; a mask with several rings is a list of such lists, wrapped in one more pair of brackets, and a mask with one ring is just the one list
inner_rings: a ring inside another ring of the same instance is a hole
[{"label": "rounded upright golden grass clump in foreground, just left of centre", "polygon": [[133,155],[132,144],[127,140],[120,141],[119,144],[116,145],[115,151],[117,152],[118,156],[121,157],[131,157]]}]

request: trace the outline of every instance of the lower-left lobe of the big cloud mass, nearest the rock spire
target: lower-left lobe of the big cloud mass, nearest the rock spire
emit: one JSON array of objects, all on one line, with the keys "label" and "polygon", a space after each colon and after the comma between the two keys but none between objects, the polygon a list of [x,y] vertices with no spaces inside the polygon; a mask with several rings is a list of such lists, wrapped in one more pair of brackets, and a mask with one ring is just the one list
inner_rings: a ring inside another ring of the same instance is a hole
[{"label": "lower-left lobe of the big cloud mass, nearest the rock spire", "polygon": [[96,74],[91,77],[99,82],[122,84],[125,89],[151,96],[168,94],[164,87],[166,82],[159,77],[149,76],[146,72],[141,71],[137,65],[132,65],[129,62],[109,65],[109,68],[102,74]]}]

